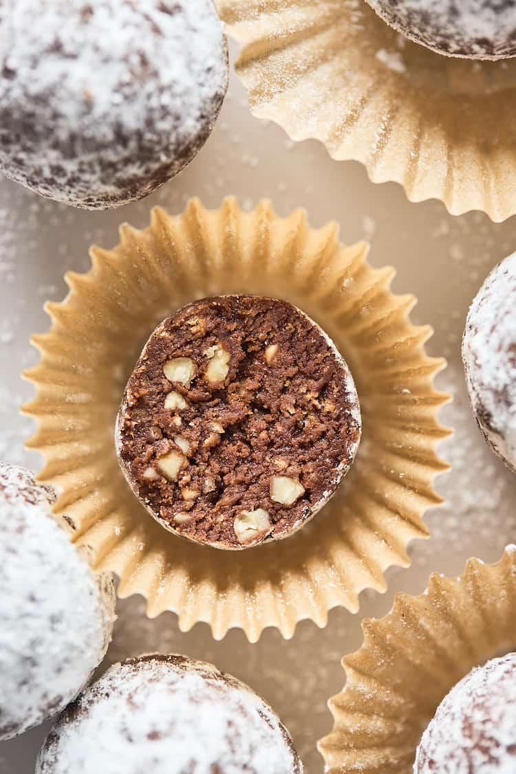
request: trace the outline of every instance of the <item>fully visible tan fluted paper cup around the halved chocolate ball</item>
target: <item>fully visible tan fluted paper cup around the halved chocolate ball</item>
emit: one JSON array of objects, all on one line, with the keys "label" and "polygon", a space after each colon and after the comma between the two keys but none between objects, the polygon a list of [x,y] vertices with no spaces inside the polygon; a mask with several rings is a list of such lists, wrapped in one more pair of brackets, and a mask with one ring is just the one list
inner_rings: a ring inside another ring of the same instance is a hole
[{"label": "fully visible tan fluted paper cup around the halved chocolate ball", "polygon": [[[68,273],[70,293],[48,303],[49,333],[32,341],[41,361],[26,372],[37,420],[29,448],[45,457],[42,481],[60,496],[77,543],[120,577],[119,594],[140,593],[150,616],[179,615],[214,636],[241,627],[251,641],[266,626],[291,637],[296,622],[326,625],[330,608],[358,609],[358,594],[385,590],[384,570],[408,567],[412,538],[428,536],[422,514],[440,501],[432,486],[446,464],[447,435],[436,413],[446,397],[433,377],[429,327],[408,320],[413,296],[388,289],[393,269],[372,269],[367,245],[343,247],[337,226],[315,230],[305,214],[285,219],[262,201],[245,213],[233,199],[207,211],[152,211],[149,228],[121,228],[114,250],[91,249],[92,269]],[[361,399],[363,440],[333,500],[299,533],[268,546],[229,552],[162,529],[128,488],[114,450],[114,420],[125,382],[149,334],[193,299],[261,293],[296,304],[333,338]]]}]

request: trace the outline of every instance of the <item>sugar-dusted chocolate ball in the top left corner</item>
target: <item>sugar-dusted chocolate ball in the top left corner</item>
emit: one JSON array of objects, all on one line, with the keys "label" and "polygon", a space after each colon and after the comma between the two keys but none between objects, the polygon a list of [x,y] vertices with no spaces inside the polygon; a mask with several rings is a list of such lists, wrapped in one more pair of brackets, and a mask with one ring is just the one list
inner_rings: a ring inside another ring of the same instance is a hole
[{"label": "sugar-dusted chocolate ball in the top left corner", "polygon": [[0,171],[105,209],[166,183],[227,89],[212,0],[0,2]]}]

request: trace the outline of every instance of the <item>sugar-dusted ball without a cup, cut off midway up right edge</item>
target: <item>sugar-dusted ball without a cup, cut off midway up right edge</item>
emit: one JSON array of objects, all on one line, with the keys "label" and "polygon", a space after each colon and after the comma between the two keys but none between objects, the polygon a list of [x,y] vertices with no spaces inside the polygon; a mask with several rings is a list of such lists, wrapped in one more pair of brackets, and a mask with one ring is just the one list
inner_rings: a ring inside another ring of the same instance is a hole
[{"label": "sugar-dusted ball without a cup, cut off midway up right edge", "polygon": [[473,300],[463,361],[480,430],[516,470],[516,253],[497,265]]}]

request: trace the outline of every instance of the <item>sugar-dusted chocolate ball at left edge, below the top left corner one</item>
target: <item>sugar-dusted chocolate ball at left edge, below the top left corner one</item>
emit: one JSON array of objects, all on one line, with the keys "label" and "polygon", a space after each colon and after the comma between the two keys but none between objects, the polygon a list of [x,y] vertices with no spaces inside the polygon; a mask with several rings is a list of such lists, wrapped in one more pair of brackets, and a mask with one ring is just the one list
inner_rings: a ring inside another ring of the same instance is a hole
[{"label": "sugar-dusted chocolate ball at left edge, below the top left corner one", "polygon": [[80,558],[51,518],[54,500],[0,463],[0,740],[63,710],[111,639],[111,576]]}]

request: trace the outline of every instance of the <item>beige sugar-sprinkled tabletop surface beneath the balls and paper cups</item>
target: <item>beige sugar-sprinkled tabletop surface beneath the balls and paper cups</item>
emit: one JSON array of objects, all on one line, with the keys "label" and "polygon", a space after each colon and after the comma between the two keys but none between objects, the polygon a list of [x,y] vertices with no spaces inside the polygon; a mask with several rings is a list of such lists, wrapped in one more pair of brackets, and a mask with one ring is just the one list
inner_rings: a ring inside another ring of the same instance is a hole
[{"label": "beige sugar-sprinkled tabletop surface beneath the balls and paper cups", "polygon": [[[244,207],[270,197],[279,214],[301,205],[316,226],[338,221],[343,241],[368,238],[373,265],[398,269],[395,291],[419,296],[412,317],[435,328],[429,351],[449,358],[439,386],[455,396],[441,413],[456,435],[442,446],[453,471],[439,479],[447,502],[428,515],[432,539],[412,545],[412,568],[388,572],[387,594],[362,595],[359,615],[336,609],[323,631],[303,622],[290,642],[268,630],[251,646],[241,632],[214,642],[202,624],[182,634],[172,614],[148,621],[139,598],[118,604],[108,662],[149,651],[184,652],[213,661],[272,704],[292,732],[307,774],[316,774],[323,769],[316,740],[332,724],[326,700],[342,687],[340,657],[361,644],[361,618],[383,615],[395,591],[422,591],[432,570],[458,574],[467,557],[497,560],[504,545],[516,541],[516,480],[484,447],[466,402],[460,365],[466,310],[490,268],[516,248],[514,218],[495,225],[483,214],[450,217],[439,202],[409,204],[397,185],[374,186],[360,165],[333,162],[316,142],[294,145],[280,128],[258,122],[235,79],[207,146],[176,180],[138,204],[111,212],[75,211],[2,180],[1,459],[35,471],[40,466],[36,455],[23,450],[32,423],[18,409],[32,389],[19,374],[36,361],[30,334],[48,327],[43,302],[66,293],[63,272],[87,269],[87,246],[114,245],[122,221],[147,224],[153,204],[177,212],[190,196],[199,195],[204,204],[216,207],[225,194],[235,194]],[[0,774],[30,774],[45,732],[38,728],[0,744]]]}]

